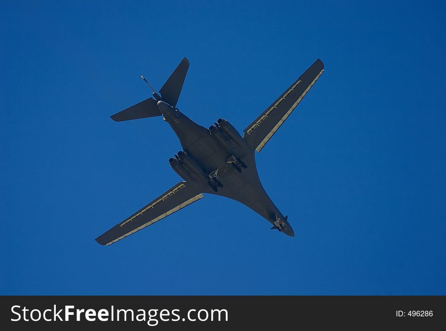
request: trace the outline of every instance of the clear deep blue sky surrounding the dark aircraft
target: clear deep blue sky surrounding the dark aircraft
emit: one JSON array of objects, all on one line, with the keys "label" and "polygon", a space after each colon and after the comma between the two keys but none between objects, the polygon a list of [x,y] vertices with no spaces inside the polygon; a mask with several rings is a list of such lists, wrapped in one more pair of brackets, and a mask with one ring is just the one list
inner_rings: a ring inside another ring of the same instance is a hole
[{"label": "clear deep blue sky surrounding the dark aircraft", "polygon": [[[446,295],[444,5],[0,4],[0,294]],[[296,236],[206,195],[109,247],[179,181],[160,118],[108,116],[191,62],[178,107],[242,131],[325,72],[257,154]],[[249,228],[249,231],[245,231]]]}]

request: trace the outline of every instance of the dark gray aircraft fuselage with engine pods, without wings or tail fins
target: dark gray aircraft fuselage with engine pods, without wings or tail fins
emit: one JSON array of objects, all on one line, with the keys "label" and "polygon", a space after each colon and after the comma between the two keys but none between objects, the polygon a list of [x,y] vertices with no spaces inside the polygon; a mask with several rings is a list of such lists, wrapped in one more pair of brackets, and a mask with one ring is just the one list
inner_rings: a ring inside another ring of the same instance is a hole
[{"label": "dark gray aircraft fuselage with engine pods, without wings or tail fins", "polygon": [[[164,101],[163,119],[178,137],[183,151],[169,160],[177,174],[202,192],[239,201],[268,220],[279,231],[294,236],[287,218],[265,192],[252,151],[225,119],[206,129]],[[185,153],[184,153],[185,152]],[[175,167],[174,167],[175,166]]]}]

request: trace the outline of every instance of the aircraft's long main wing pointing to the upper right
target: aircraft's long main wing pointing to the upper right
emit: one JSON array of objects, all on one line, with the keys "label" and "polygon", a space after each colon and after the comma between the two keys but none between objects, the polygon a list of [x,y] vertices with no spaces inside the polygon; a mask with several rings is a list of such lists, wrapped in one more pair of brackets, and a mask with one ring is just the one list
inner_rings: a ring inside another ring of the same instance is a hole
[{"label": "aircraft's long main wing pointing to the upper right", "polygon": [[243,130],[243,139],[251,149],[260,152],[271,137],[301,102],[324,71],[317,59],[293,84],[282,93],[262,114]]}]

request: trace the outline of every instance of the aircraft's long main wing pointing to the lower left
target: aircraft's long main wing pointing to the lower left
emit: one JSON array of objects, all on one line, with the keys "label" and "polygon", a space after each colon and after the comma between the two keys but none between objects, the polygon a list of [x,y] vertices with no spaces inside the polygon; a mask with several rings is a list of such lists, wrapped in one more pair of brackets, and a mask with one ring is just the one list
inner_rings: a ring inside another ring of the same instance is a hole
[{"label": "aircraft's long main wing pointing to the lower left", "polygon": [[95,240],[101,245],[108,246],[201,198],[203,198],[203,194],[196,187],[187,182],[179,182]]}]

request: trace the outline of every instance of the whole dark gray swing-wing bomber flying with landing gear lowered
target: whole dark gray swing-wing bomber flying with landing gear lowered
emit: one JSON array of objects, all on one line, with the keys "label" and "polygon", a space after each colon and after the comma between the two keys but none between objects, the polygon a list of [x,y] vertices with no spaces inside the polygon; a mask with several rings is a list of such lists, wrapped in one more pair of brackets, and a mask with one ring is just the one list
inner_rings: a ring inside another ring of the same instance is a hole
[{"label": "whole dark gray swing-wing bomber flying with landing gear lowered", "polygon": [[184,78],[189,68],[184,58],[157,93],[115,115],[112,119],[123,121],[145,117],[163,116],[177,135],[183,150],[169,158],[170,167],[184,180],[145,205],[96,238],[101,245],[110,245],[146,226],[179,211],[201,199],[203,193],[234,199],[264,217],[279,232],[291,237],[294,231],[288,216],[276,207],[265,192],[255,167],[254,151],[260,152],[280,128],[294,108],[324,71],[317,59],[298,80],[262,114],[243,130],[243,137],[229,121],[218,118],[206,129],[176,107]]}]

